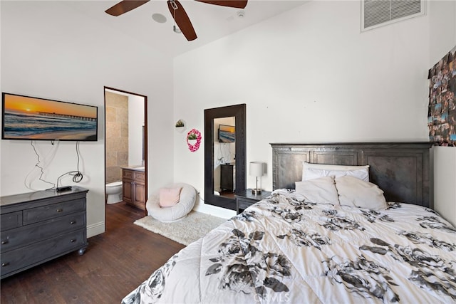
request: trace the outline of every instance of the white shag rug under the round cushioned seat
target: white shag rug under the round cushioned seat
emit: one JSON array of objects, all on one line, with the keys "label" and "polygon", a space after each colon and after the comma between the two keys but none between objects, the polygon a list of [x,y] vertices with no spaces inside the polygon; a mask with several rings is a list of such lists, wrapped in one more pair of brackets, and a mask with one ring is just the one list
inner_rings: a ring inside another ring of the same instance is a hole
[{"label": "white shag rug under the round cushioned seat", "polygon": [[217,216],[202,212],[190,211],[184,219],[172,223],[163,223],[152,216],[145,216],[135,221],[135,224],[155,234],[188,245],[205,236],[209,231],[227,221]]}]

